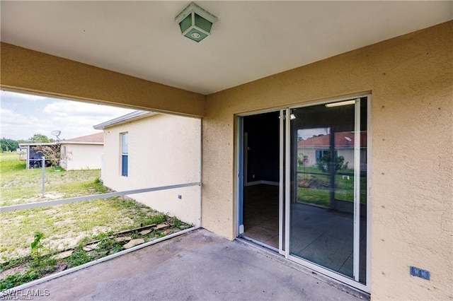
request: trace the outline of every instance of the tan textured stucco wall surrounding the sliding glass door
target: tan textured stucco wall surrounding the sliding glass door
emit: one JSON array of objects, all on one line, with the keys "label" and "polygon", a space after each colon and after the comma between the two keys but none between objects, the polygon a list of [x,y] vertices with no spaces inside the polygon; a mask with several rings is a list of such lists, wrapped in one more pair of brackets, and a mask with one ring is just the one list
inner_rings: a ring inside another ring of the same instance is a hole
[{"label": "tan textured stucco wall surrounding the sliding glass door", "polygon": [[203,227],[234,237],[234,114],[371,92],[372,298],[452,298],[452,33],[444,23],[208,95]]}]

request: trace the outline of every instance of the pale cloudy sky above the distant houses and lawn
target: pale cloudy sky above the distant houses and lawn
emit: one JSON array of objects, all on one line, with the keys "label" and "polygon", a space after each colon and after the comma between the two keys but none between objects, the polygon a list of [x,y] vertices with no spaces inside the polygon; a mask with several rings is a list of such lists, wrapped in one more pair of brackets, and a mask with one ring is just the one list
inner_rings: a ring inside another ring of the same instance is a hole
[{"label": "pale cloudy sky above the distant houses and lawn", "polygon": [[76,138],[99,133],[93,125],[130,112],[134,110],[1,90],[0,137],[26,140],[43,134],[56,140],[51,132],[59,130],[60,139]]}]

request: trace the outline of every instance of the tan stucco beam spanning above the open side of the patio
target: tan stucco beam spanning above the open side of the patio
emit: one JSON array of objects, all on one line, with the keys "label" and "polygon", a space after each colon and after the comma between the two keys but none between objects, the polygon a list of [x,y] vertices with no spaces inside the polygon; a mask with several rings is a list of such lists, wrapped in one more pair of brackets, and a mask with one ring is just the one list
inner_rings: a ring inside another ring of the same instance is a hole
[{"label": "tan stucco beam spanning above the open side of the patio", "polygon": [[205,95],[4,42],[0,58],[2,88],[198,117],[205,111]]}]

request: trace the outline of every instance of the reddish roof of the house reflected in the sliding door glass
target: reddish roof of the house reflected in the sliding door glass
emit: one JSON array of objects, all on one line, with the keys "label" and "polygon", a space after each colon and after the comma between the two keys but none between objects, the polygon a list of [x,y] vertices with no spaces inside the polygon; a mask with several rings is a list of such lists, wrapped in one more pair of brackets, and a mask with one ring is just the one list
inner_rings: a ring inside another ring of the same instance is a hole
[{"label": "reddish roof of the house reflected in the sliding door glass", "polygon": [[[307,138],[299,141],[297,148],[328,148],[330,146],[331,134]],[[353,148],[355,136],[353,131],[340,131],[335,133],[336,148]],[[360,147],[367,146],[367,132],[360,132]]]}]

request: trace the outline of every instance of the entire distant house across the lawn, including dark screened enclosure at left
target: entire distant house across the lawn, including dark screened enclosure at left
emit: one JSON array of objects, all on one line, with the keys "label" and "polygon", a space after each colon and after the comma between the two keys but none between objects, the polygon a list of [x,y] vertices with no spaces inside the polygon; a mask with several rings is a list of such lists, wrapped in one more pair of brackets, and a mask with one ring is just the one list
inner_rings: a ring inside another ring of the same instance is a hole
[{"label": "entire distant house across the lawn, including dark screened enclosure at left", "polygon": [[[97,133],[50,143],[21,143],[21,160],[27,161],[27,168],[41,167],[45,149],[53,148],[60,155],[59,166],[65,170],[100,169],[103,138],[103,133]],[[45,160],[50,166],[50,159]]]}]

